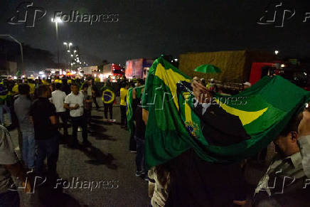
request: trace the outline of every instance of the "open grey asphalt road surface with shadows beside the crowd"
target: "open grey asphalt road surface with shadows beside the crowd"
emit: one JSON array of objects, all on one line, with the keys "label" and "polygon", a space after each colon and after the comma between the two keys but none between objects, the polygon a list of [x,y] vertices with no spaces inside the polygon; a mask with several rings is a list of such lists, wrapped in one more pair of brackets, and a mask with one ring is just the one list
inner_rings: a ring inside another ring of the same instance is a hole
[{"label": "open grey asphalt road surface with shadows beside the crowd", "polygon": [[[148,206],[148,183],[135,176],[136,154],[129,152],[129,132],[119,126],[119,107],[113,108],[113,115],[117,123],[106,124],[103,108],[92,110],[88,138],[92,146],[71,149],[61,144],[58,175],[62,184],[54,189],[55,184],[45,182],[34,193],[20,191],[21,206]],[[16,130],[11,137],[17,147]],[[78,139],[82,142],[81,132]],[[36,185],[43,181],[38,178]]]}]

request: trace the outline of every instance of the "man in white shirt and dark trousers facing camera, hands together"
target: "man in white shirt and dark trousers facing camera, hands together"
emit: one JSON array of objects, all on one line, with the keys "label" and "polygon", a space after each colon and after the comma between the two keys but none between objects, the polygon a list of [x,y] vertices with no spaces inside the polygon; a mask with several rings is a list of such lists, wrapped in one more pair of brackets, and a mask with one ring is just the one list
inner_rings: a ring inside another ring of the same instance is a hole
[{"label": "man in white shirt and dark trousers facing camera, hands together", "polygon": [[64,107],[70,110],[70,117],[73,127],[73,145],[77,145],[77,127],[82,127],[82,143],[90,145],[87,140],[87,122],[84,117],[84,95],[79,91],[76,84],[71,85],[71,93],[65,97]]}]

